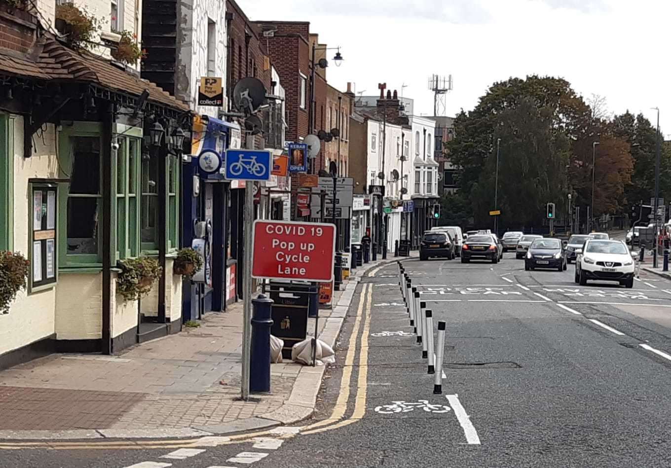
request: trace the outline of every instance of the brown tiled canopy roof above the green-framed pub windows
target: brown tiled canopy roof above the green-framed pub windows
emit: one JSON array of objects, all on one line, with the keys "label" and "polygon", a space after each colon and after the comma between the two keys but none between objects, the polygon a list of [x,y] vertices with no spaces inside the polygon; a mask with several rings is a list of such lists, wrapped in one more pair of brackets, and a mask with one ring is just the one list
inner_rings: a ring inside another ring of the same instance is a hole
[{"label": "brown tiled canopy roof above the green-framed pub windows", "polygon": [[51,37],[36,44],[37,58],[4,54],[0,49],[0,71],[44,80],[77,80],[92,82],[112,91],[141,95],[149,93],[149,101],[188,111],[189,107],[156,84],[138,78],[90,52],[67,48]]}]

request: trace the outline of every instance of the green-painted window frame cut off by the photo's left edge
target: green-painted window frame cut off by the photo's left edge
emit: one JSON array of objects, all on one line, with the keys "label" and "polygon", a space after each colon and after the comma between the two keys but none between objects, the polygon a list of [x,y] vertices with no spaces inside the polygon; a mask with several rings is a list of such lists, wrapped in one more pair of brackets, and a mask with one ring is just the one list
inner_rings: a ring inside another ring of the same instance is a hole
[{"label": "green-painted window frame cut off by the photo's left edge", "polygon": [[0,250],[13,249],[14,119],[0,113]]}]

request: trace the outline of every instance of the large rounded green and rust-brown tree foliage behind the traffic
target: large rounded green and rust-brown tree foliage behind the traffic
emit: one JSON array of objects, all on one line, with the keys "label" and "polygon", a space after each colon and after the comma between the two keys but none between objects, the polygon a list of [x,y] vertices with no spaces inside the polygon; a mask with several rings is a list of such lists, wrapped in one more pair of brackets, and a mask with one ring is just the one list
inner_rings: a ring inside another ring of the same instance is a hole
[{"label": "large rounded green and rust-brown tree foliage behind the traffic", "polygon": [[459,169],[459,197],[470,203],[476,225],[491,222],[500,138],[499,225],[539,225],[546,202],[554,202],[563,217],[568,193],[582,206],[591,203],[592,142],[599,141],[595,214],[617,213],[626,204],[633,171],[626,120],[599,119],[562,78],[497,82],[473,111],[456,117],[455,138],[446,145]]}]

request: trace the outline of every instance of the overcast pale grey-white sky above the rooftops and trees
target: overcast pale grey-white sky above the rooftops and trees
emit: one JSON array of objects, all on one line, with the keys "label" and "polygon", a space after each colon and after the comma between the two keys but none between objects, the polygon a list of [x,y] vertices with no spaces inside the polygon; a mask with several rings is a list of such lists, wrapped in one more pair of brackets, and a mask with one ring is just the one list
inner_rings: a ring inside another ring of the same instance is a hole
[{"label": "overcast pale grey-white sky above the rooftops and trees", "polygon": [[[642,112],[671,138],[671,1],[668,0],[238,0],[251,19],[310,21],[341,46],[329,83],[365,95],[407,84],[415,113],[433,114],[431,74],[452,74],[447,115],[470,110],[493,82],[562,76],[610,113]],[[331,51],[329,51],[331,55]]]}]

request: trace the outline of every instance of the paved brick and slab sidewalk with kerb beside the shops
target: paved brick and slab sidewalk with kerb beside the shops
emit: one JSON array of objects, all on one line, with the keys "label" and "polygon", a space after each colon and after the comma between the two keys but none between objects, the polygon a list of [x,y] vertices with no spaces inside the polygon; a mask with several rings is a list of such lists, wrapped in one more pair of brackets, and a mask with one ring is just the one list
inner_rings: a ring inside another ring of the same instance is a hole
[{"label": "paved brick and slab sidewalk with kerb beside the shops", "polygon": [[[335,345],[360,276],[357,268],[319,311],[319,339]],[[309,320],[309,335],[315,320]],[[272,364],[272,393],[240,397],[242,303],[201,327],[116,356],[50,355],[0,371],[0,439],[226,434],[310,416],[325,366]],[[252,370],[253,371],[253,370]]]}]

